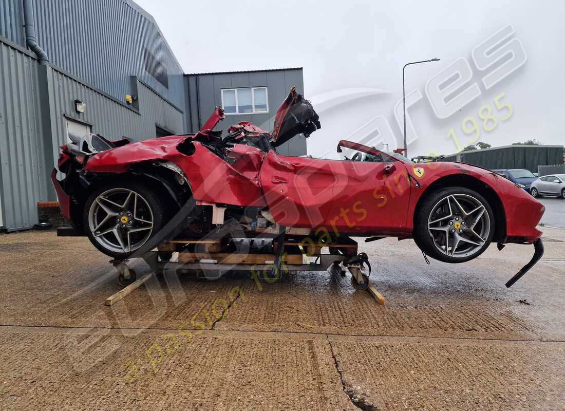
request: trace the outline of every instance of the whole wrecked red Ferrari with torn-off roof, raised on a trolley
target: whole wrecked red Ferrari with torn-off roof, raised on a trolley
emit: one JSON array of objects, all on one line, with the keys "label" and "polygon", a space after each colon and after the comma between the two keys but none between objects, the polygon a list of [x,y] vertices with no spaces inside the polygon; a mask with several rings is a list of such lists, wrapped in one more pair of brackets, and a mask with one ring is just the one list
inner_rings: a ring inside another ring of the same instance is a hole
[{"label": "whole wrecked red Ferrari with torn-off roof, raised on a trolley", "polygon": [[[413,238],[423,253],[458,263],[498,243],[534,244],[544,206],[511,181],[463,163],[414,164],[342,140],[344,160],[288,157],[277,146],[320,128],[293,88],[272,132],[249,122],[214,131],[217,107],[194,135],[141,142],[71,135],[52,178],[62,213],[101,252],[127,258],[179,232]],[[516,279],[514,278],[514,281]],[[511,280],[512,282],[512,280]],[[510,283],[510,282],[509,282]],[[511,285],[511,284],[510,284]]]}]

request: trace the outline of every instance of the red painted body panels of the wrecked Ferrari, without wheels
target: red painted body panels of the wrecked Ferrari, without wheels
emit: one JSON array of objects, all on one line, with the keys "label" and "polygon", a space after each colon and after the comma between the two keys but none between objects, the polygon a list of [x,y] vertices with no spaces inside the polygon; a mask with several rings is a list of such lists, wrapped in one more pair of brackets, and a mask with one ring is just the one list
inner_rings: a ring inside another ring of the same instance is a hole
[{"label": "red painted body panels of the wrecked Ferrari, without wheels", "polygon": [[[532,243],[541,236],[537,230],[545,207],[495,172],[464,163],[432,162],[408,164],[353,162],[310,157],[289,157],[274,151],[235,144],[228,163],[201,142],[195,152],[185,155],[177,146],[193,136],[168,136],[134,142],[93,155],[85,170],[120,174],[140,162],[162,159],[179,166],[192,187],[194,200],[235,206],[268,206],[276,222],[286,227],[327,227],[349,235],[411,236],[411,218],[418,200],[433,183],[448,176],[475,179],[497,194],[502,204],[506,228],[502,243]],[[355,143],[360,150],[378,153]],[[353,147],[353,145],[351,145]],[[416,177],[414,168],[424,170]],[[415,176],[415,188],[408,173]],[[55,184],[58,185],[58,184]],[[68,200],[58,190],[66,207]],[[69,218],[67,210],[63,210]]]}]

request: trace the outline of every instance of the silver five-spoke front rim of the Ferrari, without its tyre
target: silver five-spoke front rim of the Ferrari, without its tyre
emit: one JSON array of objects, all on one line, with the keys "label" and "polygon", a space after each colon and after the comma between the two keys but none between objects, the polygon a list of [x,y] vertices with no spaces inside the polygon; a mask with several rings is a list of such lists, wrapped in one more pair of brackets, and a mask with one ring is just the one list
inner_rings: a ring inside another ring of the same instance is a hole
[{"label": "silver five-spoke front rim of the Ferrari, without its tyre", "polygon": [[483,248],[490,234],[484,204],[468,194],[450,194],[433,206],[428,233],[446,256],[464,258]]}]

